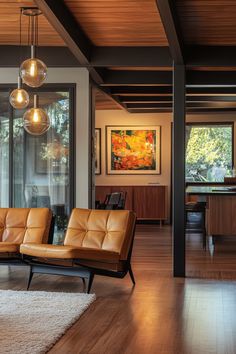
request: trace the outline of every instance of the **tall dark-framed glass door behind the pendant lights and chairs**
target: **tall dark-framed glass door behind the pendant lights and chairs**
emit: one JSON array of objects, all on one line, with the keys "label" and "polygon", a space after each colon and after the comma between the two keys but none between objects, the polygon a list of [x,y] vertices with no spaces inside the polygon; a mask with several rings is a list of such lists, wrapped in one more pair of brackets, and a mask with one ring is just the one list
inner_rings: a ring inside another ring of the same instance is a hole
[{"label": "tall dark-framed glass door behind the pendant lights and chairs", "polygon": [[47,85],[38,95],[51,127],[37,137],[23,128],[25,110],[0,92],[0,207],[51,208],[57,242],[73,207],[73,87]]}]

